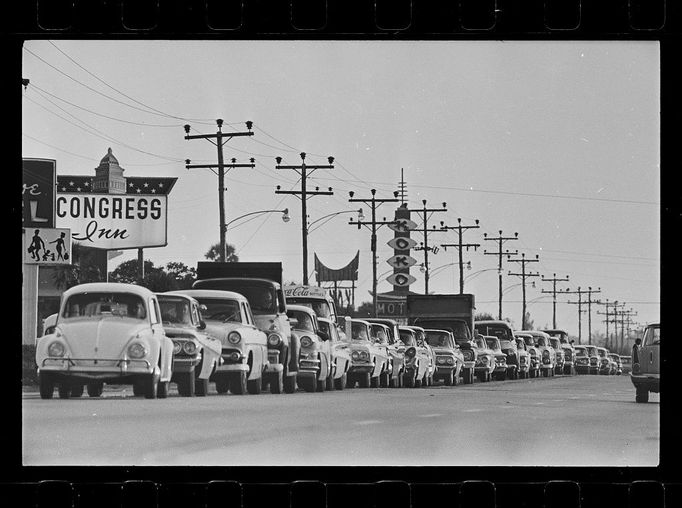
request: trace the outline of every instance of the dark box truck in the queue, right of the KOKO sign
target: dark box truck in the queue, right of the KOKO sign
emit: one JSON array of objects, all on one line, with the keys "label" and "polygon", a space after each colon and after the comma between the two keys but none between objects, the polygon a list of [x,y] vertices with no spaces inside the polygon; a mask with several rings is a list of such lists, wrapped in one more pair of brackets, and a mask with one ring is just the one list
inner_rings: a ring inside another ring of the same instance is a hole
[{"label": "dark box truck in the queue, right of the KOKO sign", "polygon": [[464,383],[474,382],[476,351],[473,343],[475,298],[472,294],[407,295],[407,322],[422,328],[452,332],[462,350]]}]

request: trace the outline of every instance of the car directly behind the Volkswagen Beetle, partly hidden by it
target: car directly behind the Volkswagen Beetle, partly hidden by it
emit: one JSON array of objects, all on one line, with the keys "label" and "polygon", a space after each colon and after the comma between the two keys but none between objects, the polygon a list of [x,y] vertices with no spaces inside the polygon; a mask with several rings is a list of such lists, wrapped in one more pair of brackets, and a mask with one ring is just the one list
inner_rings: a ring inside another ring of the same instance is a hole
[{"label": "car directly behind the Volkswagen Beetle, partly hidden by it", "polygon": [[218,366],[220,340],[206,333],[199,302],[182,294],[157,293],[166,336],[173,341],[173,377],[178,394],[192,397],[208,393],[208,379]]}]

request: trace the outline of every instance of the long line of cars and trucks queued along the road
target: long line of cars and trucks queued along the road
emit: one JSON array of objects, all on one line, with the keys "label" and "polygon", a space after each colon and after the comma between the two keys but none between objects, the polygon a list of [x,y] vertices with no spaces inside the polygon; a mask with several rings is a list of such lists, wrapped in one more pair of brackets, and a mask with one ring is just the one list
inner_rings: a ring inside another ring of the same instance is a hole
[{"label": "long line of cars and trucks queued along the road", "polygon": [[[286,294],[286,296],[285,296]],[[620,374],[618,355],[573,347],[561,330],[512,331],[478,321],[472,337],[392,319],[338,316],[324,290],[268,279],[206,278],[153,293],[91,283],[64,292],[37,341],[40,396],[293,393],[471,384],[555,374]]]}]

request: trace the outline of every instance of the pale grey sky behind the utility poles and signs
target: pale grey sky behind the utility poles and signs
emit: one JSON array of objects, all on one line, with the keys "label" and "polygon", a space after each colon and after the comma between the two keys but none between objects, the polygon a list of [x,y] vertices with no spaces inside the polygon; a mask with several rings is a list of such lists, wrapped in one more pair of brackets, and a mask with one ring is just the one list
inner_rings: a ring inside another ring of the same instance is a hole
[{"label": "pale grey sky behind the utility poles and signs", "polygon": [[[169,196],[168,246],[145,250],[155,265],[196,266],[219,240],[217,177],[184,165],[187,158],[215,163],[216,148],[186,141],[182,125],[207,134],[216,132],[216,118],[230,124],[225,132],[244,130],[251,120],[255,135],[225,147],[228,159],[257,162],[255,170],[228,173],[227,220],[288,207],[291,221],[264,214],[232,225],[227,241],[242,261],[282,261],[286,280],[302,279],[300,201],[274,193],[276,185],[299,188],[298,176],[275,170],[274,158],[299,164],[305,151],[310,164],[336,158],[333,170],[309,180],[334,189],[333,196],[308,200],[310,221],[357,209],[349,190],[369,197],[376,188],[378,197],[392,197],[401,168],[411,207],[422,199],[434,207],[447,203],[447,213],[429,224],[478,219],[481,228],[464,237],[483,244],[465,253],[472,264],[465,291],[476,295],[478,311],[497,316],[497,258],[483,254],[496,244],[482,234],[502,230],[519,233],[505,248],[539,254],[529,270],[568,275],[561,288],[600,287],[597,296],[627,302],[637,321],[659,319],[657,42],[59,40],[27,42],[23,62],[30,79],[22,104],[24,157],[56,159],[58,175],[94,176],[111,147],[125,176],[178,177]],[[390,205],[379,210],[392,216]],[[360,250],[356,301],[369,301],[370,232],[348,226],[353,217],[341,214],[311,231],[309,270],[313,253],[339,268]],[[384,277],[391,237],[388,228],[379,230]],[[455,233],[429,236],[432,245],[455,241]],[[412,255],[423,260],[421,252]],[[456,265],[445,266],[456,255],[448,249],[430,256],[431,291],[458,291]],[[110,270],[136,256],[126,251]],[[519,269],[505,262],[505,274]],[[418,280],[411,289],[423,292],[423,275],[416,267],[412,274]],[[531,319],[551,326],[551,295],[541,293],[551,285],[530,280]],[[503,314],[517,326],[519,283],[504,277]],[[379,292],[390,289],[380,282]],[[593,306],[592,328],[603,332],[597,310],[604,309]],[[577,334],[577,306],[560,303],[557,321]],[[586,322],[584,316],[583,337]]]}]

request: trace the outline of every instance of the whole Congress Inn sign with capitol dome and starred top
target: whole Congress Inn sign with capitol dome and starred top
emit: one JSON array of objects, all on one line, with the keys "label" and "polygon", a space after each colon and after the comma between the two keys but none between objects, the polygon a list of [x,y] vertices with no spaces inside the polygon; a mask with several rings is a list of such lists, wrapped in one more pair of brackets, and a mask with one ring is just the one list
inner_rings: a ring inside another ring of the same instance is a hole
[{"label": "whole Congress Inn sign with capitol dome and starred top", "polygon": [[109,149],[95,177],[57,176],[58,227],[71,238],[106,250],[163,247],[167,242],[168,193],[177,178],[124,177]]}]

